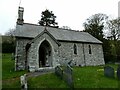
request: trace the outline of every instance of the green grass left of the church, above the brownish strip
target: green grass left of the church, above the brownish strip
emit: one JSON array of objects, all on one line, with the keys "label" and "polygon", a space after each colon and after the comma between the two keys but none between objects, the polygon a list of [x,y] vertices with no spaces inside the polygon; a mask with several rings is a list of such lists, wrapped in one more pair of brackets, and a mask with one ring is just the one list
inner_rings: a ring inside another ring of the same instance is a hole
[{"label": "green grass left of the church, above the brownish strip", "polygon": [[21,76],[26,71],[15,71],[14,60],[11,60],[11,54],[2,55],[2,79],[10,79]]}]

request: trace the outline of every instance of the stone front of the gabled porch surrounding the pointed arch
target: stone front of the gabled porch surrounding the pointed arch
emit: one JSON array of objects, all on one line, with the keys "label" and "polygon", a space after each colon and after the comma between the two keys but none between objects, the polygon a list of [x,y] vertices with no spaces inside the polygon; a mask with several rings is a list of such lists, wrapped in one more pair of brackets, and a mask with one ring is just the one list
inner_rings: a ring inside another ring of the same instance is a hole
[{"label": "stone front of the gabled porch surrounding the pointed arch", "polygon": [[35,71],[39,69],[39,47],[41,43],[47,40],[52,48],[51,51],[51,62],[52,66],[55,67],[58,63],[58,45],[56,42],[46,33],[44,33],[42,36],[36,38],[33,43],[31,44],[31,47],[28,51],[28,63],[29,63],[29,70]]}]

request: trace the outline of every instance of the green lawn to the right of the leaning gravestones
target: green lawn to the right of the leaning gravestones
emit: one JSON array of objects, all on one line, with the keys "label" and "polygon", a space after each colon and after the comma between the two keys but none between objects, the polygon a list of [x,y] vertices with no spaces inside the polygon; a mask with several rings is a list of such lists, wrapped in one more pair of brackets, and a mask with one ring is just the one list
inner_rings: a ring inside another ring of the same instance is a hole
[{"label": "green lawn to the right of the leaning gravestones", "polygon": [[107,78],[99,69],[103,67],[74,68],[74,85],[76,88],[118,88],[117,79]]}]

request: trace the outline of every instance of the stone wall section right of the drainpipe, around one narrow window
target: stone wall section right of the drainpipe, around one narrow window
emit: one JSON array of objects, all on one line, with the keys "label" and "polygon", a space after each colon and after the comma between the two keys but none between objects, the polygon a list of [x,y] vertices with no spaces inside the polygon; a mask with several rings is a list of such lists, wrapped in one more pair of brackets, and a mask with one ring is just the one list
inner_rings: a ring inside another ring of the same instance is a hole
[{"label": "stone wall section right of the drainpipe, around one narrow window", "polygon": [[[91,46],[91,54],[89,54],[89,45]],[[104,56],[102,45],[85,44],[85,62],[86,66],[104,65]]]}]

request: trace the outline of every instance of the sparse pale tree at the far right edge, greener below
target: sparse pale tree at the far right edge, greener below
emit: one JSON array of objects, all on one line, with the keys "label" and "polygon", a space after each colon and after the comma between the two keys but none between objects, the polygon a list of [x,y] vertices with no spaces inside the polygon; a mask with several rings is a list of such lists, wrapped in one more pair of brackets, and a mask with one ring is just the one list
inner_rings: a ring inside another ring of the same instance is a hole
[{"label": "sparse pale tree at the far right edge, greener below", "polygon": [[111,54],[113,54],[115,61],[120,61],[120,18],[112,19],[107,22],[111,45]]}]

